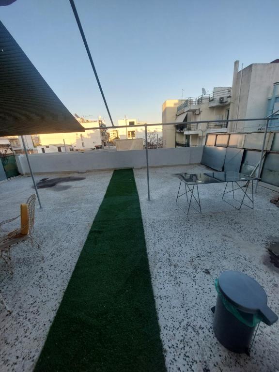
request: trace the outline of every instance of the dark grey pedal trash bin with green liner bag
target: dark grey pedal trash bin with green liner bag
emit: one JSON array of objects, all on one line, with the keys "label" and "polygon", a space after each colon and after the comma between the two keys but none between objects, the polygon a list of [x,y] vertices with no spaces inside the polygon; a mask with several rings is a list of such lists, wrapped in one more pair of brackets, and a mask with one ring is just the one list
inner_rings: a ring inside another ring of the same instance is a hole
[{"label": "dark grey pedal trash bin with green liner bag", "polygon": [[216,280],[217,303],[213,329],[218,341],[235,353],[247,353],[256,325],[272,325],[278,316],[267,306],[260,284],[238,271],[225,271]]}]

